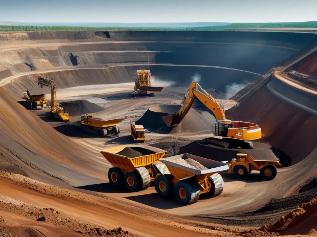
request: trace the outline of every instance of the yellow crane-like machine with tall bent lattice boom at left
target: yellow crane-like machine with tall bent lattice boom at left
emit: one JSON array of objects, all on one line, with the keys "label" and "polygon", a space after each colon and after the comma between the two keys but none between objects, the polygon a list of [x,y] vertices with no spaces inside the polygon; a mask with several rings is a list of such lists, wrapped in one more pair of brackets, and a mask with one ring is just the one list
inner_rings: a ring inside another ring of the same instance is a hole
[{"label": "yellow crane-like machine with tall bent lattice boom at left", "polygon": [[47,118],[55,118],[61,121],[69,121],[69,113],[64,113],[64,109],[59,107],[56,100],[56,84],[54,79],[39,76],[37,83],[43,87],[51,88],[51,111],[45,112]]}]

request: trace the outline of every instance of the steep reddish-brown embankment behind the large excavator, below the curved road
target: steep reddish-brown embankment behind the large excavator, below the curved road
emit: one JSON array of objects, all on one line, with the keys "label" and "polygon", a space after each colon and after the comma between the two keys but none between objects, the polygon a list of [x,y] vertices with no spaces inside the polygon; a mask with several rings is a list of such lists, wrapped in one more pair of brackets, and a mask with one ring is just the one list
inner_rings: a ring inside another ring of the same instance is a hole
[{"label": "steep reddish-brown embankment behind the large excavator, below the curved road", "polygon": [[277,98],[265,86],[229,109],[227,118],[258,124],[262,140],[291,157],[292,164],[303,160],[316,147],[316,116]]}]

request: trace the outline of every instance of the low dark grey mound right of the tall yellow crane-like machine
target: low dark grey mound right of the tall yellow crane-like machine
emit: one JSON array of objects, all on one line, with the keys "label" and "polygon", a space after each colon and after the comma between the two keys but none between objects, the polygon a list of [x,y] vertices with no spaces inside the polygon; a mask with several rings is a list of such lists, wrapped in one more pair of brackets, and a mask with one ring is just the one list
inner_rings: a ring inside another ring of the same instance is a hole
[{"label": "low dark grey mound right of the tall yellow crane-like machine", "polygon": [[61,102],[61,107],[63,107],[64,112],[69,113],[70,116],[79,116],[85,113],[96,113],[104,110],[99,105],[91,103],[87,100]]}]

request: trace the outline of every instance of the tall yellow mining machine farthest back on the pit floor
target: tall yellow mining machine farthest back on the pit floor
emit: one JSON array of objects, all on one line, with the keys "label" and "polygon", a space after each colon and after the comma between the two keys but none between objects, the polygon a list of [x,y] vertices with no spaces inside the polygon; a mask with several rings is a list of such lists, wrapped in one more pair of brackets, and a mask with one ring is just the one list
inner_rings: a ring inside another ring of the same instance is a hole
[{"label": "tall yellow mining machine farthest back on the pit floor", "polygon": [[132,96],[149,95],[154,96],[154,92],[161,92],[163,87],[151,86],[151,71],[137,70],[138,79],[134,83],[134,91]]}]

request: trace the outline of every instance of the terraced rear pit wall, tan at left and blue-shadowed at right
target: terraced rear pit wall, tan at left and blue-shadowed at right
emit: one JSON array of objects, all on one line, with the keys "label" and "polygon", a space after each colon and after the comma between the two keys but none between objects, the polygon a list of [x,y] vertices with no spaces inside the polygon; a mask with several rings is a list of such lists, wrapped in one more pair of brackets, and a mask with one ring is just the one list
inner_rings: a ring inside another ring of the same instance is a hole
[{"label": "terraced rear pit wall, tan at left and blue-shadowed at right", "polygon": [[[28,40],[61,44],[9,52],[0,50],[0,79],[10,73],[56,68],[55,72],[43,73],[56,77],[59,88],[66,88],[133,82],[135,70],[150,69],[154,78],[172,81],[174,86],[188,87],[198,78],[204,89],[216,89],[223,94],[228,85],[237,83],[243,87],[254,82],[272,67],[317,41],[316,34],[287,32],[41,31],[25,32],[21,37],[14,35],[16,33],[0,33],[0,38],[19,44]],[[66,41],[78,44],[65,45]],[[84,42],[91,44],[82,44]],[[65,70],[65,67],[72,68]],[[26,88],[33,94],[40,93],[35,81],[32,82],[33,77],[26,77],[28,80],[22,76],[6,90],[15,98]]]}]

